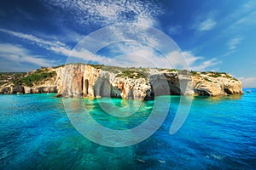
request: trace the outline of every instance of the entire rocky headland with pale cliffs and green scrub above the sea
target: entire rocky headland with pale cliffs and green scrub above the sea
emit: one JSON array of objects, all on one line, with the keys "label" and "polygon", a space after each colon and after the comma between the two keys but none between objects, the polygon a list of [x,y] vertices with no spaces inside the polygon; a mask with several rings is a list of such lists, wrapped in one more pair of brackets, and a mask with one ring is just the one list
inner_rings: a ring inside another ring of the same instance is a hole
[{"label": "entire rocky headland with pale cliffs and green scrub above the sea", "polygon": [[28,72],[0,87],[0,94],[16,93],[153,99],[163,94],[242,94],[242,87],[239,80],[227,73],[69,64]]}]

